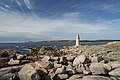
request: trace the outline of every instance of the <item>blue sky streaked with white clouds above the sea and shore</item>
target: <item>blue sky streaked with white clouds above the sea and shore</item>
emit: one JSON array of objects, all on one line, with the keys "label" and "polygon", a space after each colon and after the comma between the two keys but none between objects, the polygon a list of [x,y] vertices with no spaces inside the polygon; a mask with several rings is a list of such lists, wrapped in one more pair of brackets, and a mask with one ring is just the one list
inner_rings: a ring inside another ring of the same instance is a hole
[{"label": "blue sky streaked with white clouds above the sea and shore", "polygon": [[120,39],[120,0],[0,0],[0,43]]}]

